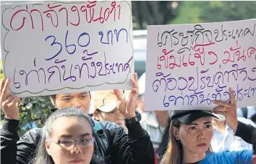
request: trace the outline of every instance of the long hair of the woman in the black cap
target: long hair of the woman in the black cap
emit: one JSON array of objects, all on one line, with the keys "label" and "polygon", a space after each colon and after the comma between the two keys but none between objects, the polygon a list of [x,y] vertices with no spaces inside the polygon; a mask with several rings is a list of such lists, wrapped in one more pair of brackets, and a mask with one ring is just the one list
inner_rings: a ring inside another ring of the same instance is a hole
[{"label": "long hair of the woman in the black cap", "polygon": [[[169,144],[168,144],[168,150],[163,155],[163,160],[161,164],[182,164],[183,161],[183,146],[182,142],[180,140],[176,140],[173,134],[174,127],[178,128],[180,127],[182,123],[179,122],[178,119],[172,119],[171,125],[169,129]],[[208,147],[208,150],[206,152],[212,152],[212,148]]]}]

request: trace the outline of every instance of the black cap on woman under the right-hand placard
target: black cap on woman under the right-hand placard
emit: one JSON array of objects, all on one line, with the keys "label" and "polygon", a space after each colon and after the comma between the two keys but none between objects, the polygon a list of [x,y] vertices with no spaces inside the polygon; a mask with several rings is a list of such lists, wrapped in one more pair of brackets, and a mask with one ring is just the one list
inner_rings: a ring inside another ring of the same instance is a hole
[{"label": "black cap on woman under the right-hand placard", "polygon": [[171,115],[171,119],[178,119],[182,124],[191,124],[202,117],[216,117],[212,111],[202,110],[175,110]]}]

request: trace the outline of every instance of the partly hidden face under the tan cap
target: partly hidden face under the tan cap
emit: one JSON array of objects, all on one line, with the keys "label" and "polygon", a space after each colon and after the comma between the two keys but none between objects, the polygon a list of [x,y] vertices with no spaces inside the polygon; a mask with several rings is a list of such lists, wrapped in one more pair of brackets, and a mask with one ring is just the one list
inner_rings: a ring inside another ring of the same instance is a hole
[{"label": "partly hidden face under the tan cap", "polygon": [[124,115],[119,111],[119,109],[114,109],[110,112],[103,112],[100,111],[98,114],[96,114],[99,121],[108,121],[108,122],[114,122],[118,124],[121,127],[124,127]]}]

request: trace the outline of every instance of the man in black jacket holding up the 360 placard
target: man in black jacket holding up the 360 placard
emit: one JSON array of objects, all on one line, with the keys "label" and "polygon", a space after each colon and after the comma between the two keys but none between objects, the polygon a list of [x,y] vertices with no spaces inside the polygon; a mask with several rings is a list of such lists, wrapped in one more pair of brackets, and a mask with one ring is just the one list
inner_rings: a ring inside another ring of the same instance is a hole
[{"label": "man in black jacket holding up the 360 placard", "polygon": [[[45,128],[33,128],[18,137],[20,120],[17,96],[9,94],[10,79],[2,79],[0,85],[0,106],[5,119],[1,129],[1,163],[27,164],[35,155],[38,142],[43,137]],[[117,124],[93,121],[93,154],[101,164],[155,163],[155,152],[148,132],[140,125],[141,115],[135,110],[139,88],[137,73],[130,79],[133,88],[126,91],[127,97],[119,99],[119,110],[124,114],[128,134]],[[88,113],[90,94],[88,92],[51,95],[51,101],[57,109],[77,107]]]}]

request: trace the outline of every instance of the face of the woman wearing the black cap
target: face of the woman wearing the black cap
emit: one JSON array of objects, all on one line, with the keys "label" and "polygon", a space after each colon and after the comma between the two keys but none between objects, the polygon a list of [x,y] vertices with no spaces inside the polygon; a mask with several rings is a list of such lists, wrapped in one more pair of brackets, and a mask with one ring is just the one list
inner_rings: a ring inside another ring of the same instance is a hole
[{"label": "face of the woman wearing the black cap", "polygon": [[192,124],[181,124],[179,129],[174,128],[174,136],[182,142],[184,152],[205,153],[213,137],[212,119],[202,117]]}]

